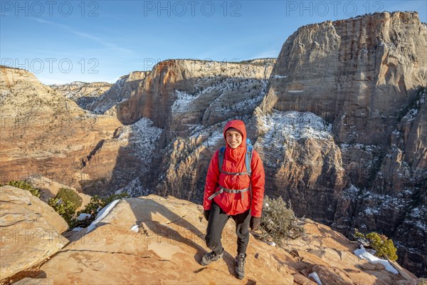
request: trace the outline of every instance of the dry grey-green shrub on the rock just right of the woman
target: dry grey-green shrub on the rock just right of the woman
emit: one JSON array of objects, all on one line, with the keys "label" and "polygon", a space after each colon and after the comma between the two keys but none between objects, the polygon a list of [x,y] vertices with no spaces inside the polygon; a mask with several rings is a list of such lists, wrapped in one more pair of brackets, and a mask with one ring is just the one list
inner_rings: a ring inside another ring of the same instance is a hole
[{"label": "dry grey-green shrub on the rock just right of the woman", "polygon": [[288,206],[282,197],[264,197],[261,239],[272,239],[278,245],[283,244],[283,239],[296,239],[304,233],[304,228],[297,221],[290,204]]}]

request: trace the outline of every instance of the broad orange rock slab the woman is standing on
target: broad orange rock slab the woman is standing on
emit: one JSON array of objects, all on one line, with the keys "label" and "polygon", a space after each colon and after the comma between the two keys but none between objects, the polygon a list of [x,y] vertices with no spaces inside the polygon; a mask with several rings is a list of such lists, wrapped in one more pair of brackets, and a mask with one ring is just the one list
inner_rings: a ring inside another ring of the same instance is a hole
[{"label": "broad orange rock slab the woman is standing on", "polygon": [[103,219],[71,237],[35,277],[53,284],[315,284],[307,278],[315,271],[323,284],[409,284],[368,266],[342,234],[310,220],[307,234],[285,244],[286,250],[251,236],[246,276],[238,280],[233,222],[224,230],[223,259],[201,266],[206,253],[201,206],[155,195],[113,203]]}]

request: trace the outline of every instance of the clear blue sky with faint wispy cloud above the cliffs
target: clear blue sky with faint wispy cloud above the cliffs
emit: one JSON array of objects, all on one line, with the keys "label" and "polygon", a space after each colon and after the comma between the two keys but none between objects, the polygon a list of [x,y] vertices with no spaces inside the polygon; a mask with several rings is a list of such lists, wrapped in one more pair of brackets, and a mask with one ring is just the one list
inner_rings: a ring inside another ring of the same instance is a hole
[{"label": "clear blue sky with faint wispy cloud above the cliffs", "polygon": [[298,27],[427,1],[0,1],[1,64],[45,84],[114,83],[169,58],[277,57]]}]

